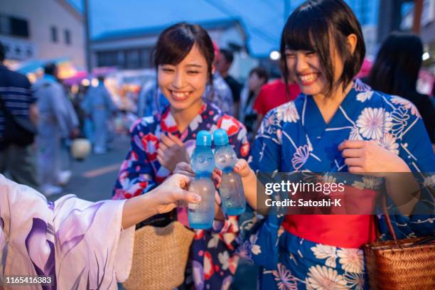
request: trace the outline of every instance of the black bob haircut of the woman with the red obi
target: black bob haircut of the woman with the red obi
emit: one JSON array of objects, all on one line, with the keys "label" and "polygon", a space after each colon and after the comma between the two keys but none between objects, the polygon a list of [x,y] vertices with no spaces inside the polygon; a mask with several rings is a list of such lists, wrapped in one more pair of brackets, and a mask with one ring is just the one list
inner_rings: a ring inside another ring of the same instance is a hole
[{"label": "black bob haircut of the woman with the red obi", "polygon": [[[354,53],[348,50],[348,36],[358,38]],[[337,49],[344,68],[338,83],[334,82],[331,48]],[[365,56],[365,44],[360,23],[343,0],[309,0],[301,4],[290,16],[281,35],[281,55],[285,50],[308,50],[318,55],[321,70],[328,82],[326,95],[335,85],[346,87],[360,71]],[[284,77],[289,68],[284,61]]]}]

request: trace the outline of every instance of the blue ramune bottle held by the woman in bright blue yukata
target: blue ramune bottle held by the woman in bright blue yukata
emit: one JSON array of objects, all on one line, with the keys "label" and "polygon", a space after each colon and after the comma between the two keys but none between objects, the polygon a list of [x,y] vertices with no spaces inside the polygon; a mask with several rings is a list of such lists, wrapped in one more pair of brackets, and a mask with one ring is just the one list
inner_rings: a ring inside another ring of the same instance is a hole
[{"label": "blue ramune bottle held by the woman in bright blue yukata", "polygon": [[241,215],[245,212],[246,199],[242,178],[233,171],[237,163],[237,155],[229,144],[225,130],[217,129],[213,133],[213,141],[216,146],[216,167],[222,171],[222,182],[219,188],[222,210],[226,215]]}]

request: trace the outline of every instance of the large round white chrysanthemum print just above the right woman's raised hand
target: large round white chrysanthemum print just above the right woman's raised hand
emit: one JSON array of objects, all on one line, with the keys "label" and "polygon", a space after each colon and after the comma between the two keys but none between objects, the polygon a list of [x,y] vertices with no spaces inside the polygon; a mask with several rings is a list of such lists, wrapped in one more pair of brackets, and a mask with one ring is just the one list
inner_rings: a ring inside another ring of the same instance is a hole
[{"label": "large round white chrysanthemum print just above the right woman's raised hand", "polygon": [[390,113],[384,108],[367,107],[361,112],[356,124],[364,138],[380,139],[390,130]]}]

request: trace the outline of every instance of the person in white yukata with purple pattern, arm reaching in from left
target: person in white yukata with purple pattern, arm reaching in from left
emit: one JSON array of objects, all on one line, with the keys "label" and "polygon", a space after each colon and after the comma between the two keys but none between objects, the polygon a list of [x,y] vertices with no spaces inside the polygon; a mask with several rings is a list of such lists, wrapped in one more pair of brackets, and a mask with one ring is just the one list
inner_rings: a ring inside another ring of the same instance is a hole
[{"label": "person in white yukata with purple pattern, arm reaching in from left", "polygon": [[[118,289],[131,268],[133,225],[178,201],[198,203],[183,190],[190,180],[176,174],[129,200],[91,203],[69,194],[52,203],[0,174],[0,289]],[[36,275],[39,284],[11,284],[11,276]]]}]

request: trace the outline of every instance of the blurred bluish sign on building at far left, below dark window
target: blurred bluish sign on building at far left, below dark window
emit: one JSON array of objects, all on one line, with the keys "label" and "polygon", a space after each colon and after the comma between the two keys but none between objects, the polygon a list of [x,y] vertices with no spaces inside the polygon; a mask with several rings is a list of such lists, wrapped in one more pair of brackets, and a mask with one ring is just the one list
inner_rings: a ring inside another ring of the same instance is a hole
[{"label": "blurred bluish sign on building at far left, below dark window", "polygon": [[30,41],[0,36],[0,42],[6,51],[6,59],[29,60],[36,58],[36,45]]}]

